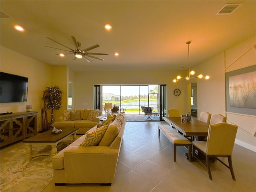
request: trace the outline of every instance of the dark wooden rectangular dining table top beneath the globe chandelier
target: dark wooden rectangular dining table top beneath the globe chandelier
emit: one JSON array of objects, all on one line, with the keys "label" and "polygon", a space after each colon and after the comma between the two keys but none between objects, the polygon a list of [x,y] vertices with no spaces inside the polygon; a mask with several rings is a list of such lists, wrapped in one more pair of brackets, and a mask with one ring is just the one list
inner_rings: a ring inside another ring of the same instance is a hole
[{"label": "dark wooden rectangular dining table top beneath the globe chandelier", "polygon": [[163,117],[166,122],[173,126],[186,136],[207,136],[208,123],[191,119],[191,122],[182,122],[181,117]]}]

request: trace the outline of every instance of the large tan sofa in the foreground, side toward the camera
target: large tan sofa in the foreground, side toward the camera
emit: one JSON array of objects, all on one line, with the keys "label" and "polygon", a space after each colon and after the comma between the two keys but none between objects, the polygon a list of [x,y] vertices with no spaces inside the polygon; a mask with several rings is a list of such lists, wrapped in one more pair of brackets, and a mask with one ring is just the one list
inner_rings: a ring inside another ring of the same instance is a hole
[{"label": "large tan sofa in the foreground, side toward the camera", "polygon": [[[116,173],[125,124],[126,116],[119,114],[110,124],[100,128],[95,126],[56,154],[52,159],[55,185],[80,183],[111,185]],[[92,136],[100,129],[105,131],[97,146],[81,146],[88,135]]]}]

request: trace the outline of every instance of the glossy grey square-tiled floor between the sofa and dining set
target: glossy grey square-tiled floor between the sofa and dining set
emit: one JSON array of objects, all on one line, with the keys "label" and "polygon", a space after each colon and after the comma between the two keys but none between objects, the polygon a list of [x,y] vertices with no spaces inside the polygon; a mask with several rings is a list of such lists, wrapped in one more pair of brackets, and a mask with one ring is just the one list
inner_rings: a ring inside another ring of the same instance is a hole
[{"label": "glossy grey square-tiled floor between the sofa and dining set", "polygon": [[[232,155],[236,181],[220,162],[212,164],[212,178],[198,162],[189,162],[165,136],[158,139],[158,124],[165,122],[126,122],[124,138],[112,186],[51,182],[43,192],[255,192],[256,153],[235,144]],[[85,173],[86,174],[86,173]]]}]

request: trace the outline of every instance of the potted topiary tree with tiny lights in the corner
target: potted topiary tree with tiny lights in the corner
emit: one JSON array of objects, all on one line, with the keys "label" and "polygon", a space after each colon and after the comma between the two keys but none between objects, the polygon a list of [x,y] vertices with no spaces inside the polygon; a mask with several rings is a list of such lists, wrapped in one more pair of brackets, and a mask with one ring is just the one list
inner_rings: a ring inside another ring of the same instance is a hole
[{"label": "potted topiary tree with tiny lights in the corner", "polygon": [[[44,111],[47,111],[48,109],[52,109],[52,111],[51,111],[51,124],[52,124],[53,123],[53,110],[54,109],[58,110],[61,107],[62,90],[60,90],[60,88],[58,86],[50,86],[47,88],[48,89],[43,91],[43,93],[44,93],[43,94]],[[48,122],[46,122],[46,123],[48,123]]]}]

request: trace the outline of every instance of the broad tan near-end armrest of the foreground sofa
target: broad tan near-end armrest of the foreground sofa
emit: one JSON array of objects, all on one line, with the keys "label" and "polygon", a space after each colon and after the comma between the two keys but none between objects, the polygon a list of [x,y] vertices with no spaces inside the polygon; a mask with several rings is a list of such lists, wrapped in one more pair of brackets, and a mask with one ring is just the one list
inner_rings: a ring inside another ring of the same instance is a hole
[{"label": "broad tan near-end armrest of the foreground sofa", "polygon": [[64,152],[66,179],[70,183],[112,183],[117,161],[118,149],[70,146]]}]

